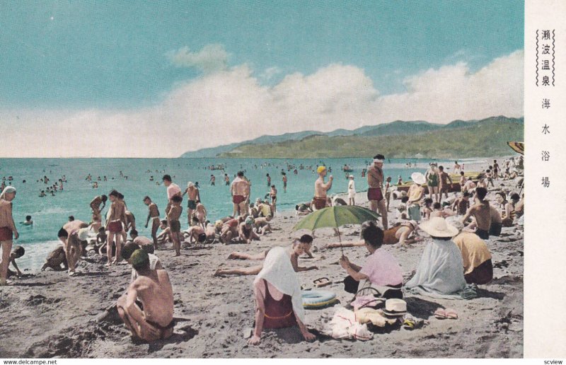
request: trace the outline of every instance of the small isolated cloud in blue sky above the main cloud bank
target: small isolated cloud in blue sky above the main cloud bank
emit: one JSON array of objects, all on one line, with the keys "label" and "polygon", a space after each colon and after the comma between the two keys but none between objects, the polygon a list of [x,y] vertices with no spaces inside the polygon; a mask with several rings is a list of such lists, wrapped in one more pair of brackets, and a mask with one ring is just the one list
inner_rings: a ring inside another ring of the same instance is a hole
[{"label": "small isolated cloud in blue sky above the main cloud bank", "polygon": [[205,45],[199,52],[190,52],[189,47],[182,47],[168,52],[166,56],[177,67],[196,67],[206,73],[224,70],[228,62],[228,52],[218,44]]}]

